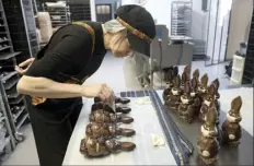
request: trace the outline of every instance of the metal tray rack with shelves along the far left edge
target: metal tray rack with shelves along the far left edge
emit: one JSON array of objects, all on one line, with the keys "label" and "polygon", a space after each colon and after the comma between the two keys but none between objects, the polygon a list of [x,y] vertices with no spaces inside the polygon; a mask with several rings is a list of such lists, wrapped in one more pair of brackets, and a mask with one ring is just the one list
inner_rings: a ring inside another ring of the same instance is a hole
[{"label": "metal tray rack with shelves along the far left edge", "polygon": [[21,52],[13,50],[2,0],[0,0],[0,157],[8,156],[15,149],[16,143],[23,141],[23,133],[19,131],[28,118],[24,96],[16,92],[20,76],[14,71],[14,66],[20,55]]}]

